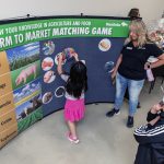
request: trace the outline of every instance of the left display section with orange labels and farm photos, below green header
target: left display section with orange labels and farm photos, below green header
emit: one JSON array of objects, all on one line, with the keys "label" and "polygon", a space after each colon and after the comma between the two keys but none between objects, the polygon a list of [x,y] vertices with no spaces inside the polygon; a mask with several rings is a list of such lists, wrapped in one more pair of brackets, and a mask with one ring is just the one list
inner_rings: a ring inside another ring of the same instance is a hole
[{"label": "left display section with orange labels and farm photos, below green header", "polygon": [[0,52],[0,58],[2,147],[10,138],[43,118],[39,43],[7,49]]}]

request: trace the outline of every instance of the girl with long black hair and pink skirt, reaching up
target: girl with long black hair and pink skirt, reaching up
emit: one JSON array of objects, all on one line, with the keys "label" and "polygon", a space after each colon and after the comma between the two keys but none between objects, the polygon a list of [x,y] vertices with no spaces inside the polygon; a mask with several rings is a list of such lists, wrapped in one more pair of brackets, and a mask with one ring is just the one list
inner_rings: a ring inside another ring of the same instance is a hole
[{"label": "girl with long black hair and pink skirt, reaching up", "polygon": [[75,62],[70,69],[70,75],[62,71],[62,56],[59,57],[58,73],[66,83],[65,119],[69,128],[68,139],[79,143],[77,134],[77,122],[83,119],[85,113],[84,92],[87,90],[86,67],[79,61],[78,55],[73,55]]}]

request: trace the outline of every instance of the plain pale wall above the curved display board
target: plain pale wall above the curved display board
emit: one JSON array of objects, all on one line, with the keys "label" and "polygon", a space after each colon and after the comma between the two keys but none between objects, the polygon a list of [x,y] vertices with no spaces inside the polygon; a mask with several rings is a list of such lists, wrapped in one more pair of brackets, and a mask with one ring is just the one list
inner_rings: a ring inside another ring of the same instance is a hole
[{"label": "plain pale wall above the curved display board", "polygon": [[31,15],[106,15],[127,16],[139,8],[145,23],[160,19],[164,0],[1,0],[0,20]]}]

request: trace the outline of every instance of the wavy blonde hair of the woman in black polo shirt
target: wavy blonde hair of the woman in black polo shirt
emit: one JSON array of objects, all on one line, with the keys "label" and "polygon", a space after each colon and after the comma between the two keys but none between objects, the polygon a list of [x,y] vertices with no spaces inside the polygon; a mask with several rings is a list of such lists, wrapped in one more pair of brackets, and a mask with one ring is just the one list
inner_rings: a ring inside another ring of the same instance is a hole
[{"label": "wavy blonde hair of the woman in black polo shirt", "polygon": [[144,46],[148,43],[148,31],[147,26],[142,20],[133,20],[130,23],[129,30],[134,28],[136,34],[138,35],[138,44],[140,47]]}]

